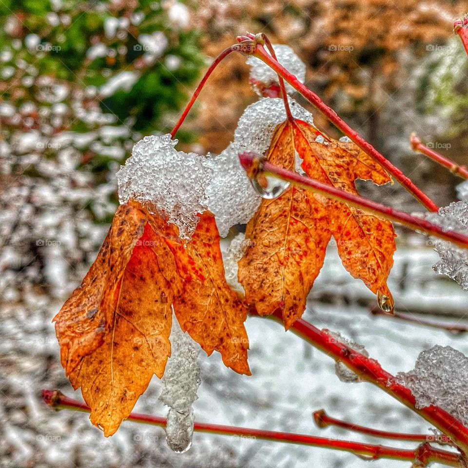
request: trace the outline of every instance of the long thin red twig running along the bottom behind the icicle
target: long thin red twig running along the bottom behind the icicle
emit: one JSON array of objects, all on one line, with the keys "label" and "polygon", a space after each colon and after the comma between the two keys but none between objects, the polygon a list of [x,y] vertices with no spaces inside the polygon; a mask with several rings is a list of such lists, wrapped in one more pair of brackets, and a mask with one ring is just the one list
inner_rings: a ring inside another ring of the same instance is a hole
[{"label": "long thin red twig running along the bottom behind the icicle", "polygon": [[[64,396],[59,390],[42,390],[42,398],[55,409],[71,409],[76,411],[89,412],[90,408],[72,398]],[[127,418],[130,421],[146,423],[155,426],[166,426],[166,418],[151,416],[149,414],[131,413]],[[292,444],[302,444],[312,447],[330,448],[354,453],[362,457],[369,457],[373,460],[379,458],[390,458],[413,462],[417,461],[421,466],[428,466],[430,463],[441,463],[449,467],[462,467],[462,461],[457,453],[447,450],[440,450],[424,444],[415,450],[386,447],[382,445],[363,444],[347,440],[329,439],[325,437],[315,437],[305,434],[292,434],[289,432],[278,432],[273,430],[239,428],[235,426],[223,426],[221,424],[197,423],[194,430],[198,432],[210,432],[214,434],[232,435],[251,439],[263,439],[277,442],[289,442]]]}]

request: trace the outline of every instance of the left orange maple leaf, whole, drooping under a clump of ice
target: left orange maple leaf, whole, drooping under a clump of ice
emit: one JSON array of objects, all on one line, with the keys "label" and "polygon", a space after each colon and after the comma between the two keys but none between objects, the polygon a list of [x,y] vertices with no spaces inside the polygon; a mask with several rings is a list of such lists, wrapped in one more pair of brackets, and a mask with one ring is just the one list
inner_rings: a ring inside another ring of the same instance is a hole
[{"label": "left orange maple leaf, whole, drooping under a clump of ice", "polygon": [[162,377],[172,307],[207,353],[220,351],[226,366],[250,374],[246,309],[225,281],[213,215],[201,215],[182,245],[176,227],[131,200],[54,318],[62,365],[104,435],[118,429],[153,374]]}]

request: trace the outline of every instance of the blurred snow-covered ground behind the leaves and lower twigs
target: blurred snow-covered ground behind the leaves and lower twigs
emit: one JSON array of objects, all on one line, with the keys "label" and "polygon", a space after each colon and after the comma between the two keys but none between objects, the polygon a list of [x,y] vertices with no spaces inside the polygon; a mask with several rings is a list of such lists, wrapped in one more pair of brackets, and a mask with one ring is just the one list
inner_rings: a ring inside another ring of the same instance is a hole
[{"label": "blurred snow-covered ground behind the leaves and lower twigs", "polygon": [[[431,271],[437,260],[429,246],[411,242],[398,246],[389,281],[396,308],[401,312],[413,308],[455,311],[460,319],[452,320],[462,320],[468,293]],[[333,292],[334,302],[317,300],[331,297]],[[363,304],[373,298],[343,269],[331,246],[304,317],[319,328],[339,331],[364,345],[392,373],[411,370],[419,352],[435,344],[468,354],[464,335],[372,316]],[[344,452],[207,433],[195,433],[192,448],[176,454],[167,448],[163,429],[132,422],[123,423],[114,436],[105,439],[86,414],[54,412],[42,403],[42,388],[58,388],[77,399],[80,392],[73,392],[59,363],[51,319],[61,303],[32,294],[28,301],[3,300],[0,309],[0,467],[367,466],[366,461]],[[200,353],[202,384],[194,405],[196,420],[390,445],[342,429],[316,428],[312,412],[323,408],[332,416],[361,425],[428,432],[427,422],[381,390],[368,383],[341,382],[328,356],[273,321],[249,318],[247,331],[251,377],[225,368],[217,353],[209,358]],[[154,377],[135,410],[166,415],[167,408],[157,399],[159,392]],[[389,460],[375,465],[402,466]]]}]

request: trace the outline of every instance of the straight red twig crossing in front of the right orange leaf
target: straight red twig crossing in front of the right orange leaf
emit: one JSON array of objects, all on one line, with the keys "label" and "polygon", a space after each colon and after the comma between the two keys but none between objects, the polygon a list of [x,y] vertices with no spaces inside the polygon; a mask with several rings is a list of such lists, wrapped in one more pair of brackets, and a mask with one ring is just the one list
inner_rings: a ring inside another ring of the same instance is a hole
[{"label": "straight red twig crossing in front of the right orange leaf", "polygon": [[271,175],[282,180],[287,180],[292,184],[312,190],[321,195],[346,203],[347,205],[365,210],[366,212],[385,217],[390,221],[403,224],[414,231],[421,231],[429,235],[435,235],[441,239],[448,240],[454,244],[468,249],[468,236],[454,231],[444,231],[440,226],[430,223],[429,221],[418,218],[408,213],[395,210],[390,206],[382,205],[359,195],[350,194],[343,190],[337,189],[331,185],[323,184],[315,179],[300,176],[299,174],[288,171],[281,167],[275,166],[268,162],[264,157],[256,153],[246,151],[239,155],[240,163],[247,172],[249,177],[255,177],[259,172],[265,175]]}]

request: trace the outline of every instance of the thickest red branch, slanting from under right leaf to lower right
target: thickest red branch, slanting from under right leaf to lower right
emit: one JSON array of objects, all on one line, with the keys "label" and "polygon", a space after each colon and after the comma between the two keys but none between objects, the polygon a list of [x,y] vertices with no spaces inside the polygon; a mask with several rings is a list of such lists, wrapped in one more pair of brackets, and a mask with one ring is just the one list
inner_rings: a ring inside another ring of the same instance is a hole
[{"label": "thickest red branch, slanting from under right leaf to lower right", "polygon": [[[254,312],[251,313],[254,314]],[[275,312],[273,315],[270,315],[269,318],[281,324],[283,323],[281,313],[279,312]],[[292,324],[290,330],[309,342],[319,351],[335,359],[335,361],[341,361],[362,380],[376,385],[378,388],[384,390],[390,396],[418,413],[426,421],[447,435],[463,453],[468,453],[468,428],[447,411],[437,406],[431,405],[424,408],[416,408],[416,402],[411,390],[398,384],[394,376],[382,369],[382,366],[375,359],[371,359],[354,351],[352,348],[339,342],[326,330],[320,331],[303,319],[296,320]]]}]

